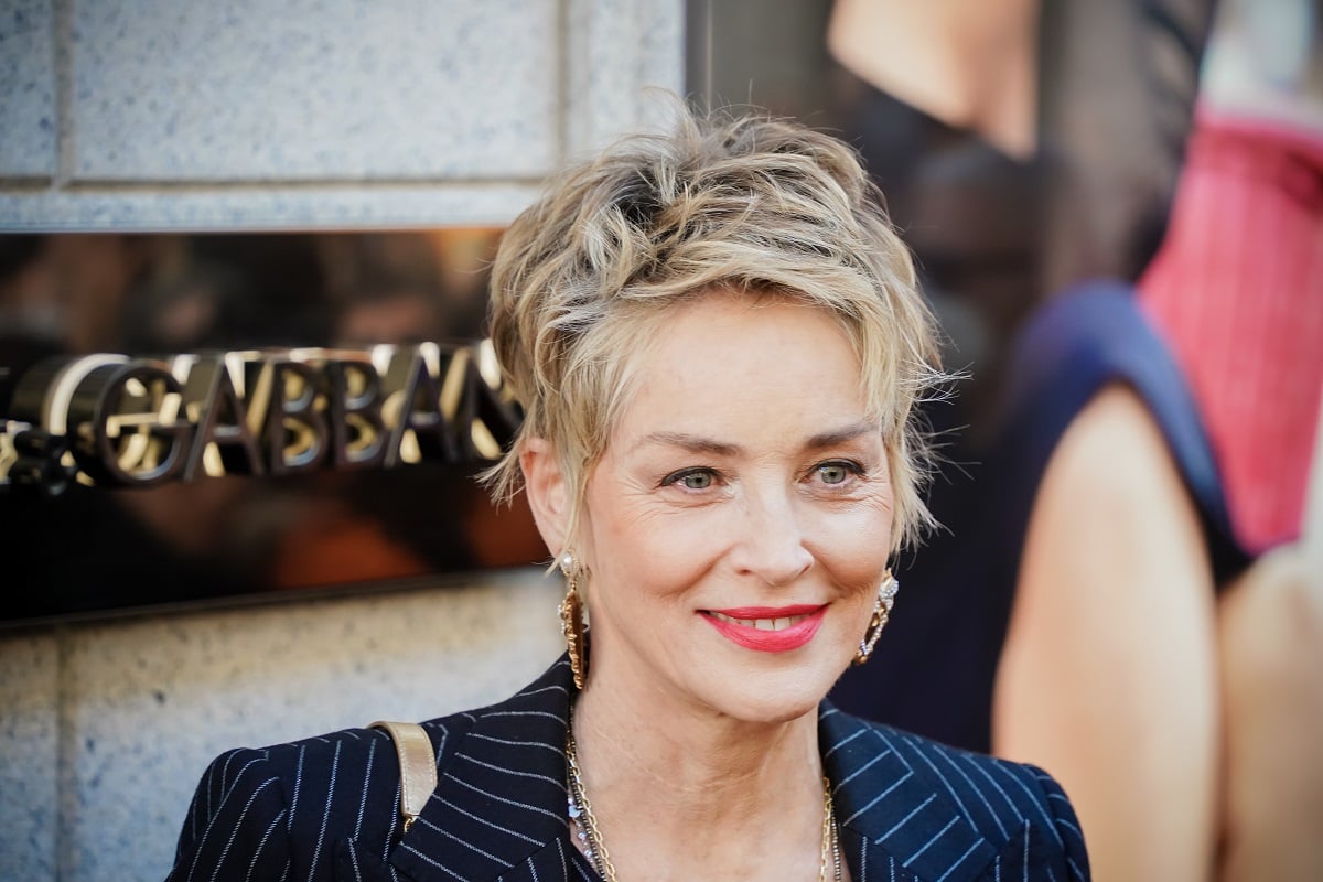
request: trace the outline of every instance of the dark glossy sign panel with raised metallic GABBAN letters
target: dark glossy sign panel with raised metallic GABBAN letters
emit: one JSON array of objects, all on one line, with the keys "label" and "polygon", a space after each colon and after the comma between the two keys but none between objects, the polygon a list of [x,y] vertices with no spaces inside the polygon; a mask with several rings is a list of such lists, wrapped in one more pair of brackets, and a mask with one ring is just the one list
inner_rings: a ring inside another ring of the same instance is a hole
[{"label": "dark glossy sign panel with raised metallic GABBAN letters", "polygon": [[497,238],[0,235],[0,623],[545,558],[474,480]]}]

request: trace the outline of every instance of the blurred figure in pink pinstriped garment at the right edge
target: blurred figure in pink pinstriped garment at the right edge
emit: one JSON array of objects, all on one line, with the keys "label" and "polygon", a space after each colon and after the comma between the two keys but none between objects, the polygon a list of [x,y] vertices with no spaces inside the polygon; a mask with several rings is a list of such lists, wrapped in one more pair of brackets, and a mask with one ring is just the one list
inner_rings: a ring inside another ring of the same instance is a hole
[{"label": "blurred figure in pink pinstriped garment at the right edge", "polygon": [[1222,871],[1323,878],[1319,3],[1220,4],[1172,225],[1140,303],[1189,381],[1232,532],[1256,558],[1217,608]]}]

